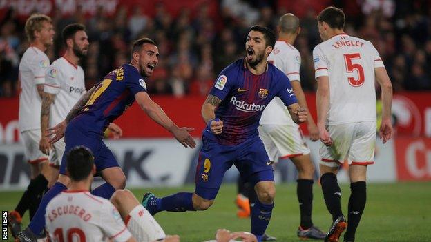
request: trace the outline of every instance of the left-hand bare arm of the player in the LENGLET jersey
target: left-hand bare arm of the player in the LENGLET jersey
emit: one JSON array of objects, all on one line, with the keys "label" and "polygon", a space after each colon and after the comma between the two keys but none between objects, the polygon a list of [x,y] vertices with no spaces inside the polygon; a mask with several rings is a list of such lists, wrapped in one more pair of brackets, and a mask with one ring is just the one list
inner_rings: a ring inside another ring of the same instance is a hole
[{"label": "left-hand bare arm of the player in the LENGLET jersey", "polygon": [[329,110],[329,77],[320,76],[316,80],[317,127],[319,129],[320,141],[329,146],[332,145],[332,139],[325,127],[327,112]]}]

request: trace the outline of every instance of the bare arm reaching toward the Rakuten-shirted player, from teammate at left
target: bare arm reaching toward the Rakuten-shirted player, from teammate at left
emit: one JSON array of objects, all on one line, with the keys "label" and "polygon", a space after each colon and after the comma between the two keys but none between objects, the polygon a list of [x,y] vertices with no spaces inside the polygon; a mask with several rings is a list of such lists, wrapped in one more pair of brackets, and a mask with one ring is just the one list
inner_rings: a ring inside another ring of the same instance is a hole
[{"label": "bare arm reaching toward the Rakuten-shirted player, from teammate at left", "polygon": [[155,103],[149,97],[149,94],[146,92],[137,92],[135,94],[135,99],[137,103],[140,105],[142,110],[156,123],[162,125],[163,128],[168,130],[173,134],[175,139],[178,140],[185,148],[195,148],[196,143],[193,140],[193,137],[189,134],[190,131],[194,130],[194,128],[182,127],[178,128],[175,123],[166,115],[166,113],[160,108],[160,105]]}]

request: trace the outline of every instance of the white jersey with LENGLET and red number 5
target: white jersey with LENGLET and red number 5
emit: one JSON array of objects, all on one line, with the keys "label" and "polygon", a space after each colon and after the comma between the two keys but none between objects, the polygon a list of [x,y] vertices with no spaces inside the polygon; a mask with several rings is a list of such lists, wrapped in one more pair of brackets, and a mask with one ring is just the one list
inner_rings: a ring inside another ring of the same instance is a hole
[{"label": "white jersey with LENGLET and red number 5", "polygon": [[374,68],[384,67],[376,48],[337,34],[313,50],[315,77],[329,77],[327,125],[376,121]]}]

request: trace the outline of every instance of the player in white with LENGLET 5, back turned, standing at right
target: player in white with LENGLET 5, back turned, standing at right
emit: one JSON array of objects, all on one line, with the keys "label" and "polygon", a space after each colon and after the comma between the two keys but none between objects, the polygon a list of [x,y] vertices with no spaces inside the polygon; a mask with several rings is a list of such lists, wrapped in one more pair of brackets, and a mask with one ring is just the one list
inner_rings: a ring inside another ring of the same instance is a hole
[{"label": "player in white with LENGLET 5, back turned, standing at right", "polygon": [[376,89],[381,87],[383,118],[379,136],[392,137],[390,122],[392,84],[379,53],[370,41],[343,32],[344,12],[325,8],[317,17],[323,43],[313,50],[316,71],[317,116],[320,132],[320,182],[332,226],[325,241],[338,241],[347,227],[341,211],[341,190],[336,174],[347,159],[351,195],[344,241],[354,241],[366,201],[367,165],[374,163]]}]

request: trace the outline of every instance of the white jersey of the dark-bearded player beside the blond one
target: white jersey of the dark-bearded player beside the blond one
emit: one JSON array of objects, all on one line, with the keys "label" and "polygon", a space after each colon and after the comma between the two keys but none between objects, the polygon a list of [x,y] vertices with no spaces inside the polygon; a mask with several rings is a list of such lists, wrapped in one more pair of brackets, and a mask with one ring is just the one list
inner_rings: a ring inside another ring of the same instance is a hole
[{"label": "white jersey of the dark-bearded player beside the blond one", "polygon": [[46,69],[44,92],[55,94],[50,110],[50,127],[54,127],[86,92],[84,71],[64,57],[57,59]]}]

